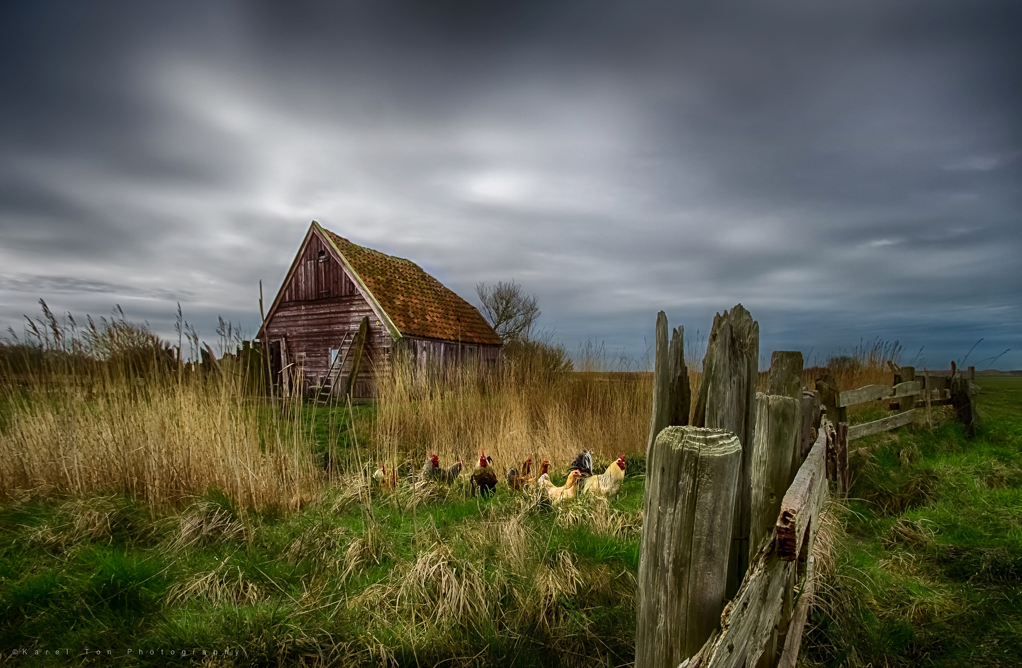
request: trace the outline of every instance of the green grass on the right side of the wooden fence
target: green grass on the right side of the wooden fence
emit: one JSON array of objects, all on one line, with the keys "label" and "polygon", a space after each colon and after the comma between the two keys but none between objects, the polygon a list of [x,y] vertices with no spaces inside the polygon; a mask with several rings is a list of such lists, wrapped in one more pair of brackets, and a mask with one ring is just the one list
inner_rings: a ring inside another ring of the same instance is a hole
[{"label": "green grass on the right side of the wooden fence", "polygon": [[977,382],[973,439],[949,421],[852,442],[806,665],[1022,664],[1022,379]]}]

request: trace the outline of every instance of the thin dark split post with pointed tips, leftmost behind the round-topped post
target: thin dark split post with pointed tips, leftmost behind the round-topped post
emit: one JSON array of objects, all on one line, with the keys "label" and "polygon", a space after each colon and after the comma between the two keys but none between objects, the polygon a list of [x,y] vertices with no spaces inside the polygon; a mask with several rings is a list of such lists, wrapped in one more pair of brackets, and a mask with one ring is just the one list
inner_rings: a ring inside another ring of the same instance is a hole
[{"label": "thin dark split post with pointed tips, leftmost behind the round-topped post", "polygon": [[653,366],[653,411],[646,451],[664,427],[687,425],[692,392],[685,366],[685,328],[676,328],[667,343],[667,315],[656,315],[656,361]]}]

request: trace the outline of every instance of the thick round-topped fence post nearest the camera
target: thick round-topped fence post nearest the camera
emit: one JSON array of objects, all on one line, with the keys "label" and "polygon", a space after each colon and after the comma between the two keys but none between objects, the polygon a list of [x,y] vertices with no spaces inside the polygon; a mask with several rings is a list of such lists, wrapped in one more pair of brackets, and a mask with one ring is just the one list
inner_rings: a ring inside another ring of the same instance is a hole
[{"label": "thick round-topped fence post nearest the camera", "polygon": [[636,668],[677,668],[721,621],[742,464],[723,429],[668,427],[647,455]]}]

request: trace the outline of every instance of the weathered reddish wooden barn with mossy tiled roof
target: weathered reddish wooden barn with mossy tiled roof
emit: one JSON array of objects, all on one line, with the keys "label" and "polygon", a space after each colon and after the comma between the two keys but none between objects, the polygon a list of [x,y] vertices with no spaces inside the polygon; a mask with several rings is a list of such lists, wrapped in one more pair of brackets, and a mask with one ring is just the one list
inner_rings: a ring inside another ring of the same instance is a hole
[{"label": "weathered reddish wooden barn with mossy tiled roof", "polygon": [[354,244],[315,221],[258,338],[281,392],[339,394],[351,385],[356,397],[375,396],[376,374],[399,351],[418,369],[494,365],[503,343],[472,304],[415,263]]}]

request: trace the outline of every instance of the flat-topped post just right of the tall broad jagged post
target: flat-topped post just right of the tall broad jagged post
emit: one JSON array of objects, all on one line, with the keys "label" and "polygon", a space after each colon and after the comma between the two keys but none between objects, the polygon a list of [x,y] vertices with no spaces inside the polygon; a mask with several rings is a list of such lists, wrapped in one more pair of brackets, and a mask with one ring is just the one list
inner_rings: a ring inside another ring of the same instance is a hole
[{"label": "flat-topped post just right of the tall broad jagged post", "polygon": [[792,450],[801,427],[799,402],[791,396],[756,393],[752,437],[752,522],[749,547],[758,551],[773,534],[781,500],[793,477]]}]

